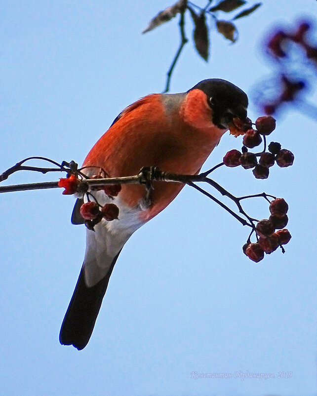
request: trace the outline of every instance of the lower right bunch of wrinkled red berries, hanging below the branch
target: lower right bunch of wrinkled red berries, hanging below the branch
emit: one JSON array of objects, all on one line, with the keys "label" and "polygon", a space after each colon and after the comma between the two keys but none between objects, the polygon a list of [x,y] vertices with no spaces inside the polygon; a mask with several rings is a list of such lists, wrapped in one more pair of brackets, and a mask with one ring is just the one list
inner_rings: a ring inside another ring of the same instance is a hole
[{"label": "lower right bunch of wrinkled red berries, hanging below the branch", "polygon": [[288,205],[283,198],[276,198],[270,203],[271,216],[259,221],[255,228],[258,241],[248,241],[243,245],[243,252],[249,259],[258,263],[264,258],[264,253],[270,254],[278,246],[282,247],[289,242],[291,235],[284,229],[288,222],[287,210]]}]

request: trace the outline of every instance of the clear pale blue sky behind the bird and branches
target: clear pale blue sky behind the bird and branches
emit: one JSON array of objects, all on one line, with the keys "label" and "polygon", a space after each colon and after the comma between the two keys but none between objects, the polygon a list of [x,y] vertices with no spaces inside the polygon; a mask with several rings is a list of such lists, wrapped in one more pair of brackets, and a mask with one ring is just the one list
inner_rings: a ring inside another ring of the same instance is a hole
[{"label": "clear pale blue sky behind the bird and branches", "polygon": [[[0,170],[29,156],[81,163],[124,107],[162,91],[179,44],[178,21],[141,31],[167,5],[2,2]],[[171,92],[223,78],[250,94],[271,73],[261,47],[270,27],[316,11],[316,0],[264,0],[237,21],[236,44],[211,32],[209,63],[187,44]],[[192,29],[187,19],[189,37]],[[251,98],[249,116],[260,115]],[[1,194],[0,393],[316,395],[316,123],[292,109],[277,118],[272,139],[295,154],[292,167],[275,166],[267,180],[238,168],[221,168],[213,177],[236,195],[266,191],[287,200],[292,239],[286,253],[251,262],[241,251],[248,230],[184,188],[122,250],[81,352],[58,341],[85,249],[84,227],[70,223],[73,197],[58,189]],[[240,147],[241,140],[226,134],[204,169]],[[7,184],[57,177],[20,172]],[[268,217],[264,200],[247,208]],[[247,370],[276,378],[191,375]],[[292,371],[292,378],[278,379],[279,371]]]}]

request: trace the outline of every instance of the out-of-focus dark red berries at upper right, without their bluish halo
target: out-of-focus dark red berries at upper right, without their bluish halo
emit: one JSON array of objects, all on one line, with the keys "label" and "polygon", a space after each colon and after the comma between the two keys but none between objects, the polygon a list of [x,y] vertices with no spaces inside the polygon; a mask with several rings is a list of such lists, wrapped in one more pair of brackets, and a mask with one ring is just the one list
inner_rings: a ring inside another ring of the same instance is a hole
[{"label": "out-of-focus dark red berries at upper right, without their bluish halo", "polygon": [[[278,61],[285,59],[291,60],[293,46],[289,45],[289,43],[293,42],[304,50],[306,58],[312,62],[313,67],[317,68],[317,47],[307,41],[307,32],[311,27],[310,23],[302,22],[297,26],[294,32],[278,30],[267,43],[269,54]],[[284,64],[283,66],[285,67]],[[263,110],[266,114],[272,115],[284,102],[292,102],[298,93],[306,86],[305,81],[301,79],[291,79],[286,76],[285,72],[286,69],[284,73],[281,73],[279,76],[279,96],[263,106]]]}]

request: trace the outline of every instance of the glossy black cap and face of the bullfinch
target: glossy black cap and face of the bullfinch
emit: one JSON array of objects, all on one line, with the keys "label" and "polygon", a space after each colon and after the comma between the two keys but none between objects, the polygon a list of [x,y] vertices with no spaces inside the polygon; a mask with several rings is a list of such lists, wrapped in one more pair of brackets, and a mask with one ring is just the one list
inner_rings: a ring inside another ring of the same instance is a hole
[{"label": "glossy black cap and face of the bullfinch", "polygon": [[200,89],[207,95],[208,105],[213,111],[212,122],[219,128],[228,129],[228,124],[234,117],[246,119],[248,97],[231,82],[223,79],[205,79],[189,91],[193,89]]}]

